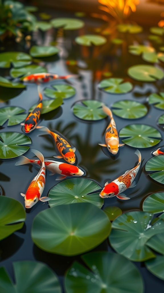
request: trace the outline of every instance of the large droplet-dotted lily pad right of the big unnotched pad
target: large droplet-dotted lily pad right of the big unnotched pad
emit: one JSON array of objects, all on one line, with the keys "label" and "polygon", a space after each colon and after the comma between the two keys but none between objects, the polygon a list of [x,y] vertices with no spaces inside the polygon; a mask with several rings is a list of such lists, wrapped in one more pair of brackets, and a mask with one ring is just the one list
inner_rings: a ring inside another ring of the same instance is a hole
[{"label": "large droplet-dotted lily pad right of the big unnotched pad", "polygon": [[146,242],[154,235],[164,232],[164,221],[151,224],[153,214],[147,212],[128,212],[112,222],[109,236],[111,246],[121,255],[133,261],[154,258],[154,253]]}]

